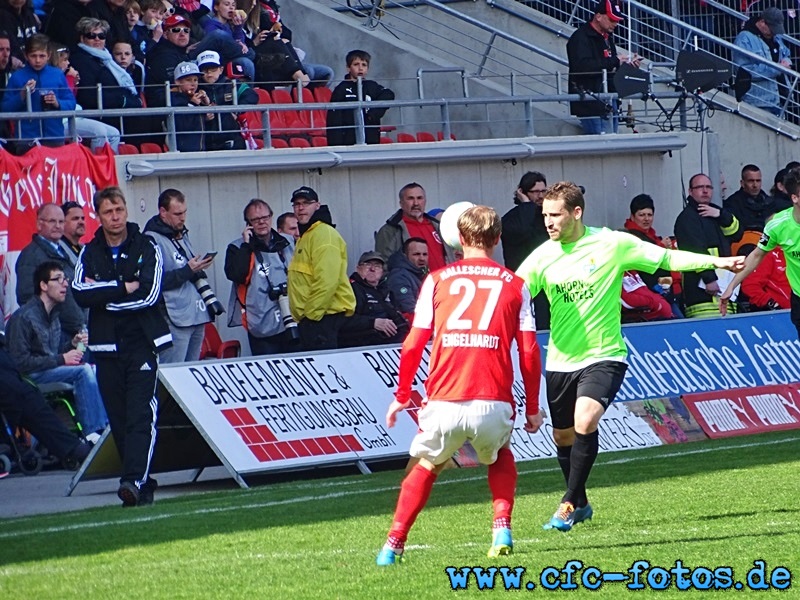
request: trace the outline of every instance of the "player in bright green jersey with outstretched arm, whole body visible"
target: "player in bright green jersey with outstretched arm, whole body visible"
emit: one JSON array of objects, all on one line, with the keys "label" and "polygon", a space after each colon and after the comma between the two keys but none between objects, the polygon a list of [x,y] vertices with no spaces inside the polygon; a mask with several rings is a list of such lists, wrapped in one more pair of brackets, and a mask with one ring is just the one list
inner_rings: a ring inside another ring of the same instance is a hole
[{"label": "player in bright green jersey with outstretched arm, whole body visible", "polygon": [[721,268],[741,270],[744,258],[667,250],[629,233],[583,224],[584,199],[573,183],[545,192],[542,213],[550,239],[517,274],[531,296],[550,300],[545,378],[558,464],[567,491],[545,529],[569,531],[592,517],[586,480],[598,451],[600,418],[625,377],[627,349],[620,324],[622,275]]}]

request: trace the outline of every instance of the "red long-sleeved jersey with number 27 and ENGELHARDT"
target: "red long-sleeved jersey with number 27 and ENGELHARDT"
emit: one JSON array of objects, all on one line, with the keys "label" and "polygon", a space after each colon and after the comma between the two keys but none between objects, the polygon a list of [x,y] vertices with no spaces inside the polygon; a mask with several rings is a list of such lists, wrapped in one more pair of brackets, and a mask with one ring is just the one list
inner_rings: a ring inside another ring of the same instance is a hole
[{"label": "red long-sleeved jersey with number 27 and ENGELHARDT", "polygon": [[514,404],[511,343],[520,351],[526,414],[539,410],[541,363],[531,298],[522,278],[487,258],[464,259],[428,275],[403,344],[396,398],[405,402],[433,332],[429,400]]}]

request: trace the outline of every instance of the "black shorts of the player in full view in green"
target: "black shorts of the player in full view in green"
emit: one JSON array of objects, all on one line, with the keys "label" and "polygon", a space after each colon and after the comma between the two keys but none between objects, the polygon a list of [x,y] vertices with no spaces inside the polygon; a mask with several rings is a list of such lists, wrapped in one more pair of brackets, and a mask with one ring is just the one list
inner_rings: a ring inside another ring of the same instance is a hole
[{"label": "black shorts of the player in full view in green", "polygon": [[547,371],[547,404],[553,429],[575,426],[575,403],[581,396],[597,400],[607,410],[622,386],[627,370],[625,363],[606,360],[570,373]]}]

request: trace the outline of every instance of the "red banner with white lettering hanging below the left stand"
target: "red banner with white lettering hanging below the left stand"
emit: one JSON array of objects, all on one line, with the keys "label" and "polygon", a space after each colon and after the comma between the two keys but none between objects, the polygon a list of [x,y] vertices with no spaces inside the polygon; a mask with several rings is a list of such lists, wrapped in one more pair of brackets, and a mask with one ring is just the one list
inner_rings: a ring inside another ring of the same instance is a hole
[{"label": "red banner with white lettering hanging below the left stand", "polygon": [[86,214],[82,240],[86,242],[99,226],[92,206],[94,192],[110,185],[117,185],[117,169],[108,145],[100,155],[81,144],[36,146],[24,156],[0,148],[0,309],[6,320],[17,306],[14,264],[36,233],[39,207],[80,204]]}]

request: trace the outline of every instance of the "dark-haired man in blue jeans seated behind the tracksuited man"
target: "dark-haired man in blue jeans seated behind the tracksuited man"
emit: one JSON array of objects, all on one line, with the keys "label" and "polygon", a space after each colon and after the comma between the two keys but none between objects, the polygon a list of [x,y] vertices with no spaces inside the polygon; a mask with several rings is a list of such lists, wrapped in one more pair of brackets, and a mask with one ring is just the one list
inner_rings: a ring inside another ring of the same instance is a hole
[{"label": "dark-haired man in blue jeans seated behind the tracksuited man", "polygon": [[61,334],[58,315],[69,278],[61,263],[46,261],[33,274],[37,294],[14,311],[8,322],[8,348],[19,370],[36,383],[74,386],[78,419],[86,439],[96,442],[108,425],[94,367],[84,361],[86,333]]}]

